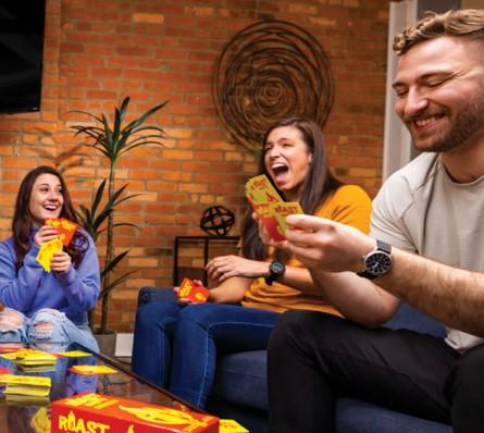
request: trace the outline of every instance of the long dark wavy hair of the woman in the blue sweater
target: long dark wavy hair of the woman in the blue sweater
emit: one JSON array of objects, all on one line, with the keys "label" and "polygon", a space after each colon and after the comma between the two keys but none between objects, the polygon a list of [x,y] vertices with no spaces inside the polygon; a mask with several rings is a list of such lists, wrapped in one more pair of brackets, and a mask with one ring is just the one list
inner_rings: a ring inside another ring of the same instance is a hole
[{"label": "long dark wavy hair of the woman in the blue sweater", "polygon": [[[16,252],[16,269],[22,267],[24,257],[30,248],[30,233],[34,226],[34,218],[30,213],[30,195],[34,188],[35,181],[41,174],[52,174],[59,178],[62,186],[62,196],[64,205],[60,218],[65,218],[73,223],[78,224],[77,215],[71,201],[71,196],[67,186],[62,175],[51,166],[41,165],[27,173],[21,183],[18,194],[16,196],[15,211],[12,220],[13,245]],[[67,247],[64,247],[66,252],[71,256],[75,267],[78,267],[83,261],[86,252],[88,240],[79,230],[76,230],[74,238]]]}]

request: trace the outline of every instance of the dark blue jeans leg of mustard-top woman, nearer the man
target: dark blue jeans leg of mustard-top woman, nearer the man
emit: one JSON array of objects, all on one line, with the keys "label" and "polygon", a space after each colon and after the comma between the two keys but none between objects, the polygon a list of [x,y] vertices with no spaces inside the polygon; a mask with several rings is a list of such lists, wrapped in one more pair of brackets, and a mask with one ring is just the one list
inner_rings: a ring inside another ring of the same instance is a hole
[{"label": "dark blue jeans leg of mustard-top woman, nearer the man", "polygon": [[264,349],[278,316],[232,305],[186,307],[175,327],[170,391],[203,408],[218,352]]}]

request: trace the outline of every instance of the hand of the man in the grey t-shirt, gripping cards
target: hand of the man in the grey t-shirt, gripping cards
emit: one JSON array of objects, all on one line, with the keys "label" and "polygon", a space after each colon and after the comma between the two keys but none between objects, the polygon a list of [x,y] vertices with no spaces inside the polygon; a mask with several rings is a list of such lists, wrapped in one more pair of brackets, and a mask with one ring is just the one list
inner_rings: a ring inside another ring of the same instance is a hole
[{"label": "hand of the man in the grey t-shirt, gripping cards", "polygon": [[324,218],[288,215],[287,248],[308,268],[328,272],[362,270],[361,258],[375,240],[359,230]]}]

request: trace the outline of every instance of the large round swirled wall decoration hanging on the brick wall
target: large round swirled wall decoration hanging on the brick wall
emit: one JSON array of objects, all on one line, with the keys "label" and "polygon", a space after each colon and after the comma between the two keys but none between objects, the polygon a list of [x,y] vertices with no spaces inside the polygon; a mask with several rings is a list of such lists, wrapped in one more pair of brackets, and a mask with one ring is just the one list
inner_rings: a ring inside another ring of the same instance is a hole
[{"label": "large round swirled wall decoration hanging on the brick wall", "polygon": [[234,139],[253,150],[276,121],[307,116],[321,127],[334,98],[328,58],[308,32],[284,21],[256,23],[224,48],[213,100]]}]

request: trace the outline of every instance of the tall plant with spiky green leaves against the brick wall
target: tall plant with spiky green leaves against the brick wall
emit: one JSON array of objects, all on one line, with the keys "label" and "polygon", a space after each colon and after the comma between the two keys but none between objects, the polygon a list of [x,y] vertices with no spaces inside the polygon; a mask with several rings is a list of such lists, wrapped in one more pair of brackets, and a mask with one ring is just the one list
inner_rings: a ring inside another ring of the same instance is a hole
[{"label": "tall plant with spiky green leaves against the brick wall", "polygon": [[[129,153],[133,149],[141,146],[156,145],[163,146],[164,131],[154,125],[146,125],[148,117],[153,115],[160,109],[166,106],[164,101],[139,117],[127,122],[126,114],[129,106],[129,97],[126,97],[119,107],[114,109],[112,125],[104,114],[95,115],[86,111],[74,111],[86,114],[95,121],[94,125],[78,124],[72,128],[76,131],[75,136],[84,135],[88,137],[88,143],[83,146],[91,147],[102,153],[109,161],[109,176],[104,178],[92,194],[90,205],[79,206],[78,216],[83,227],[98,240],[99,236],[106,235],[106,256],[101,265],[101,292],[99,299],[101,301],[101,320],[98,334],[112,334],[108,330],[108,311],[111,290],[124,282],[133,272],[124,273],[113,280],[113,271],[116,265],[126,257],[129,250],[119,255],[114,253],[114,228],[122,225],[132,225],[125,222],[115,222],[115,209],[117,206],[137,195],[125,195],[127,184],[115,189],[116,166],[123,156]],[[107,187],[108,186],[108,187]],[[92,314],[90,314],[92,321]]]}]

